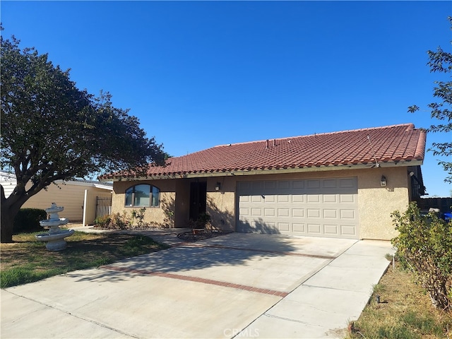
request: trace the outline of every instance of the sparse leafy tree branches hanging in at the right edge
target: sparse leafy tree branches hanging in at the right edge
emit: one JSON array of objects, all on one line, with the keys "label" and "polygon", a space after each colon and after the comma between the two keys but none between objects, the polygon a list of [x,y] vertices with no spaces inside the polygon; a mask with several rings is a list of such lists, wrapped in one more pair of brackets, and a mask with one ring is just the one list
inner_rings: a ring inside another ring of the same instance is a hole
[{"label": "sparse leafy tree branches hanging in at the right edge", "polygon": [[[449,23],[452,27],[452,17],[448,17]],[[444,49],[438,47],[436,51],[427,51],[429,55],[429,62],[431,72],[446,73],[448,81],[435,81],[433,88],[433,96],[439,99],[439,102],[432,102],[427,105],[430,109],[430,115],[433,119],[438,119],[438,124],[432,124],[427,131],[430,132],[446,132],[452,131],[452,54],[445,52]],[[415,112],[419,109],[416,105],[408,107],[408,112]],[[444,122],[443,122],[444,121]],[[439,160],[439,165],[444,167],[448,173],[448,177],[444,179],[445,182],[452,183],[452,142],[446,141],[444,143],[432,143],[432,148],[429,149],[434,155],[440,155],[446,160]]]}]

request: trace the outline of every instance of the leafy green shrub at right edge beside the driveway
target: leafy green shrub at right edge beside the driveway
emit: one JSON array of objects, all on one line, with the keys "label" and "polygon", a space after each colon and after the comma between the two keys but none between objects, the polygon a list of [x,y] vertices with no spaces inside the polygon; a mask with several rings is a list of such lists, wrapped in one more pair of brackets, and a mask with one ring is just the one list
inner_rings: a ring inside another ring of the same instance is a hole
[{"label": "leafy green shrub at right edge beside the driveway", "polygon": [[410,203],[401,215],[391,214],[398,237],[391,240],[397,253],[427,290],[437,309],[452,309],[452,222],[436,213],[421,215],[416,203]]}]

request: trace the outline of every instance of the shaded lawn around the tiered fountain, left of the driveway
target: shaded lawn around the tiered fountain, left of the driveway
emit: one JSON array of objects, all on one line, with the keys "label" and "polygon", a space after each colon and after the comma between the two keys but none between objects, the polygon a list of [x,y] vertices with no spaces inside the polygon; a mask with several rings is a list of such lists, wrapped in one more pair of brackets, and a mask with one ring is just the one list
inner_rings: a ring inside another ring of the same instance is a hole
[{"label": "shaded lawn around the tiered fountain, left of the driveway", "polygon": [[142,235],[75,232],[66,238],[64,251],[47,251],[35,234],[17,234],[13,243],[0,244],[1,288],[168,248]]}]

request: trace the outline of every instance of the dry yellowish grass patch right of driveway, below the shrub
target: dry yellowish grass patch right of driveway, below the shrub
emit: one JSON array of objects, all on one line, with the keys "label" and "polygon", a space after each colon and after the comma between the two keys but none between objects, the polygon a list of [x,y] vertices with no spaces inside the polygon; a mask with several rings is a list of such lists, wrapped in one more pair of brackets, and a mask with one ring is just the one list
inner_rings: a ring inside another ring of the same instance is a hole
[{"label": "dry yellowish grass patch right of driveway, below the shrub", "polygon": [[396,263],[375,286],[347,338],[452,338],[452,314],[434,309],[412,273]]}]

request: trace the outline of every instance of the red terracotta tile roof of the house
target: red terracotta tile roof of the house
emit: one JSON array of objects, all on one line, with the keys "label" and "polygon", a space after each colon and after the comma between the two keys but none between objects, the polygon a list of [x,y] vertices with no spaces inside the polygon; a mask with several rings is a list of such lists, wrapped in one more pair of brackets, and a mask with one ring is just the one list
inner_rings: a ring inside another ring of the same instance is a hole
[{"label": "red terracotta tile roof of the house", "polygon": [[[413,124],[219,145],[182,157],[165,167],[150,165],[150,176],[374,165],[424,159],[426,132]],[[118,172],[102,179],[133,177]]]}]

